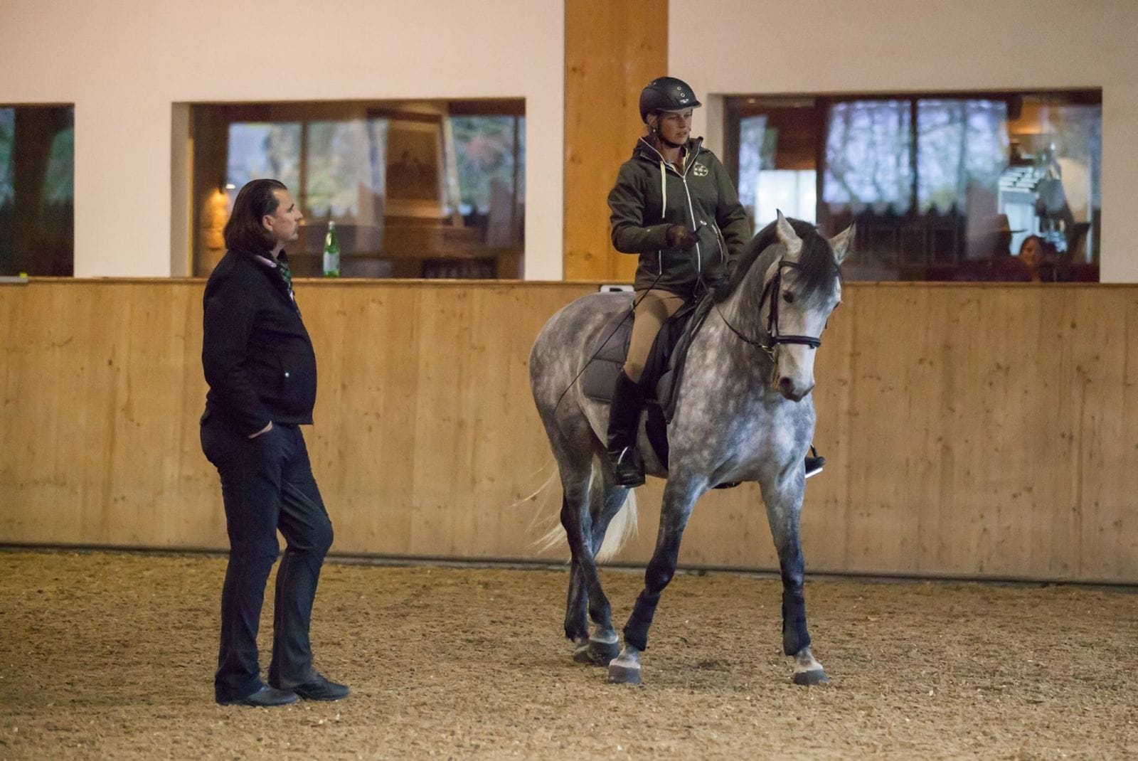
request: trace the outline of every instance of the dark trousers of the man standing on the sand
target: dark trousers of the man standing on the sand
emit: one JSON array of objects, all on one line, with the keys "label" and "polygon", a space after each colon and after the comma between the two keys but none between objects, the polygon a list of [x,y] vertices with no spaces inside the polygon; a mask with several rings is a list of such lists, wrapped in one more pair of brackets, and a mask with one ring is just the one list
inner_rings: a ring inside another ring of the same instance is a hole
[{"label": "dark trousers of the man standing on the sand", "polygon": [[287,546],[277,572],[269,681],[289,689],[314,675],[308,623],[320,566],[332,545],[332,523],[312,475],[304,436],[297,425],[274,423],[271,431],[249,439],[207,412],[201,449],[221,475],[230,543],[216,700],[239,700],[263,686],[257,628],[265,582],[279,552],[278,528]]}]

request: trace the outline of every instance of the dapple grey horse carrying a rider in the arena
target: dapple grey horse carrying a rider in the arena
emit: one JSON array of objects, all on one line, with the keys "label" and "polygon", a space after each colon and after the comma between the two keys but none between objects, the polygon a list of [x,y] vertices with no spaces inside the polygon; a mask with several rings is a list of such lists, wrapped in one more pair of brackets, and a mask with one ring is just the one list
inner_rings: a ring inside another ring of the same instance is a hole
[{"label": "dapple grey horse carrying a rider in the arena", "polygon": [[628,299],[585,296],[545,323],[529,355],[529,375],[561,475],[561,524],[572,554],[564,632],[576,645],[575,660],[608,664],[611,681],[640,684],[640,656],[695,501],[719,483],[758,481],[778,551],[783,651],[794,657],[793,681],[826,680],[806,627],[799,513],[802,462],[815,424],[815,349],[841,299],[840,265],[853,234],[850,226],[826,240],[813,225],[780,212],[740,256],[688,349],[668,424],[667,471],[642,422],[638,446],[646,471],[667,485],[655,552],[625,624],[622,650],[596,553],[613,516],[633,507],[625,504],[627,489],[613,485],[604,454],[608,406],[586,398],[577,378],[601,331],[628,309]]}]

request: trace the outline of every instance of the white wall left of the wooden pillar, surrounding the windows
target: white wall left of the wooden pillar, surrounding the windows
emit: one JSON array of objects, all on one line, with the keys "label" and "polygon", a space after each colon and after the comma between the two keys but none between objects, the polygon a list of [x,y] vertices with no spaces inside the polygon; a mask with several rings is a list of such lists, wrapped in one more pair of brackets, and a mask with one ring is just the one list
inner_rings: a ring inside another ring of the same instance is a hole
[{"label": "white wall left of the wooden pillar, surrounding the windows", "polygon": [[0,104],[75,104],[75,274],[166,276],[172,104],[523,97],[526,276],[558,280],[563,28],[560,0],[0,0]]}]

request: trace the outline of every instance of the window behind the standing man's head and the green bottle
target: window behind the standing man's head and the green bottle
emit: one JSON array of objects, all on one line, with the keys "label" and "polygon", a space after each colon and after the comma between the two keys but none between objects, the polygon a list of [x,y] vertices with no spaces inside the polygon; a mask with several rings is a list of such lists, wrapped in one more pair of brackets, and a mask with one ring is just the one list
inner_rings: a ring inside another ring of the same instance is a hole
[{"label": "window behind the standing man's head and the green bottle", "polygon": [[198,105],[191,122],[197,275],[256,177],[288,185],[305,215],[299,276],[320,274],[330,221],[344,276],[521,275],[522,100]]}]

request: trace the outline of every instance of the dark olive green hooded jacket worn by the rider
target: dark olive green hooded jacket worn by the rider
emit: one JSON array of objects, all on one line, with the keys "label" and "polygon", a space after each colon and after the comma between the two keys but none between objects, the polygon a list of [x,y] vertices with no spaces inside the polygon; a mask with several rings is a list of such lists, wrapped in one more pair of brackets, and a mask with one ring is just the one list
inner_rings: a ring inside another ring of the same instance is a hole
[{"label": "dark olive green hooded jacket worn by the rider", "polygon": [[[612,245],[638,254],[635,287],[660,288],[691,297],[700,279],[710,284],[727,274],[729,259],[751,238],[751,225],[727,171],[703,139],[684,146],[683,171],[667,164],[643,138],[620,165],[609,192]],[[668,225],[696,231],[695,247],[669,248]]]}]

